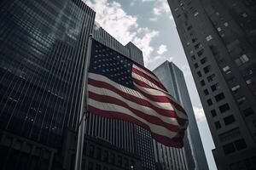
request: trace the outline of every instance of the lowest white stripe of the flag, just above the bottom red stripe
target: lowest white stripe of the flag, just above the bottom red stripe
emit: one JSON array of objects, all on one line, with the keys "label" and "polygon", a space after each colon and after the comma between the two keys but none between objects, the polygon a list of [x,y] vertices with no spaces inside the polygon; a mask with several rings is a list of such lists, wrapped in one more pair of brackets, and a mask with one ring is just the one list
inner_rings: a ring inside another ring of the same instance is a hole
[{"label": "lowest white stripe of the flag, just above the bottom red stripe", "polygon": [[[96,107],[97,109],[100,109],[102,111],[115,111],[115,112],[119,112],[120,114],[132,116],[135,119],[137,119],[139,122],[143,122],[144,124],[148,125],[151,132],[166,136],[167,138],[172,139],[172,138],[176,137],[176,135],[177,135],[176,132],[172,132],[169,129],[167,129],[166,127],[161,127],[161,126],[155,125],[153,123],[147,122],[145,119],[135,115],[134,113],[132,113],[131,111],[129,111],[128,109],[126,109],[125,107],[122,107],[120,105],[102,103],[102,102],[98,102],[94,99],[88,99],[88,104],[93,107]],[[119,114],[119,113],[117,113],[117,114]]]}]

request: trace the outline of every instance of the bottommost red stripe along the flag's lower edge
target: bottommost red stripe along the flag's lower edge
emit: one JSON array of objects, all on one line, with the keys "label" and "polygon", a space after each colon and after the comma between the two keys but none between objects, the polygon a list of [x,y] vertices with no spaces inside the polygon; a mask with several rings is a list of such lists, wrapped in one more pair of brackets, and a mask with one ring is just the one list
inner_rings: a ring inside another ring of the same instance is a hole
[{"label": "bottommost red stripe along the flag's lower edge", "polygon": [[102,110],[97,109],[96,107],[94,107],[92,105],[88,105],[88,111],[91,111],[92,113],[95,113],[96,115],[99,115],[99,116],[105,116],[105,117],[108,117],[108,118],[114,118],[114,119],[124,120],[124,121],[127,121],[127,122],[133,122],[133,123],[145,128],[145,129],[147,129],[148,131],[150,131],[151,134],[152,134],[152,137],[156,141],[160,142],[161,144],[165,144],[166,146],[172,146],[172,147],[176,147],[176,148],[182,148],[183,147],[182,139],[171,139],[171,138],[168,138],[166,136],[163,136],[163,135],[160,135],[160,134],[157,134],[157,133],[153,133],[150,130],[150,127],[148,127],[147,124],[138,121],[136,118],[134,118],[132,116],[128,116],[128,115],[125,115],[123,113],[119,113],[117,111],[102,111]]}]

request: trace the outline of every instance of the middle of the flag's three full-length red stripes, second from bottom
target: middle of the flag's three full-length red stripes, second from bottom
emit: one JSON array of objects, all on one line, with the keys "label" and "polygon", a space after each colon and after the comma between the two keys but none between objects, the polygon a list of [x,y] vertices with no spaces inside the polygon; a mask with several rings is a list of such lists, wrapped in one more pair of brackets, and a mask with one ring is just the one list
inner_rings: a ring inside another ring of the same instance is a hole
[{"label": "middle of the flag's three full-length red stripes, second from bottom", "polygon": [[96,101],[100,101],[100,102],[103,102],[103,103],[121,105],[121,106],[125,107],[126,109],[128,109],[129,111],[133,112],[135,115],[143,118],[144,120],[146,120],[146,121],[148,121],[152,124],[156,124],[156,125],[159,125],[161,127],[166,127],[167,129],[169,129],[172,132],[177,132],[178,131],[178,127],[176,125],[172,125],[172,124],[169,124],[167,122],[163,122],[157,116],[147,115],[143,111],[138,111],[138,110],[132,108],[131,106],[127,105],[125,102],[123,102],[119,99],[116,99],[116,98],[113,98],[113,97],[110,97],[110,96],[106,96],[106,95],[95,94],[93,92],[89,92],[89,98],[90,99],[95,99]]}]

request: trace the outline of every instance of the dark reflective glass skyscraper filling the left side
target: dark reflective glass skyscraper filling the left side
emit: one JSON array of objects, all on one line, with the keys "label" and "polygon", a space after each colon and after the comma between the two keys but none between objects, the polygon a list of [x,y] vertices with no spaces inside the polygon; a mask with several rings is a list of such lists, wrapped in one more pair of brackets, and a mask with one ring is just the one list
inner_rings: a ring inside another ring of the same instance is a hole
[{"label": "dark reflective glass skyscraper filling the left side", "polygon": [[79,0],[0,2],[1,169],[56,169],[79,125],[95,12]]}]

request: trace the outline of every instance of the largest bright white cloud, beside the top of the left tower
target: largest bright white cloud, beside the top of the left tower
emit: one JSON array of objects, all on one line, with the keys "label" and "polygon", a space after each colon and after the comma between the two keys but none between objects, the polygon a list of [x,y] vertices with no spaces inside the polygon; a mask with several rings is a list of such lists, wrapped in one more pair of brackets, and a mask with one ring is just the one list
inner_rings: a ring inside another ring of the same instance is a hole
[{"label": "largest bright white cloud, beside the top of the left tower", "polygon": [[[143,0],[146,1],[149,0]],[[154,51],[151,42],[159,35],[159,31],[139,26],[137,17],[126,14],[120,3],[108,3],[108,0],[84,0],[84,2],[96,11],[96,22],[102,28],[122,44],[130,41],[136,44],[143,51],[145,65],[148,64]]]}]

